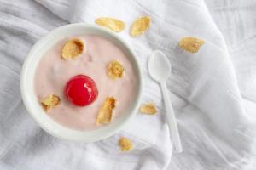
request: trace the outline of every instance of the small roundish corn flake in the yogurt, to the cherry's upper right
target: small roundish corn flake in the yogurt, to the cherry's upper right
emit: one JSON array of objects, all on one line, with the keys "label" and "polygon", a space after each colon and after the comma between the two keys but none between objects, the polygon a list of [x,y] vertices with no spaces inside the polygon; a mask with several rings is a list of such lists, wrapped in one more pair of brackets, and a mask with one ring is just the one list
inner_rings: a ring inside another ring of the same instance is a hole
[{"label": "small roundish corn flake in the yogurt, to the cherry's upper right", "polygon": [[120,63],[119,60],[113,60],[108,65],[108,76],[113,79],[123,77],[124,71],[124,65],[122,65],[122,63]]}]

